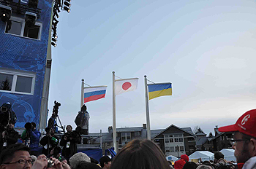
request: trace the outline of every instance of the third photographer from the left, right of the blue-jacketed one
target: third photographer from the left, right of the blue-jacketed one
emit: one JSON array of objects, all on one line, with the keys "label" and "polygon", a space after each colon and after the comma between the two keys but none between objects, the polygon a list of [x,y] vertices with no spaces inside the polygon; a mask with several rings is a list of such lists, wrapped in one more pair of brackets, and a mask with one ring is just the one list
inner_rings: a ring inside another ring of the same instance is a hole
[{"label": "third photographer from the left, right of the blue-jacketed one", "polygon": [[45,131],[46,135],[40,140],[40,144],[43,146],[42,154],[47,156],[50,154],[50,151],[59,144],[59,138],[52,133],[54,131],[53,129],[46,127]]}]

